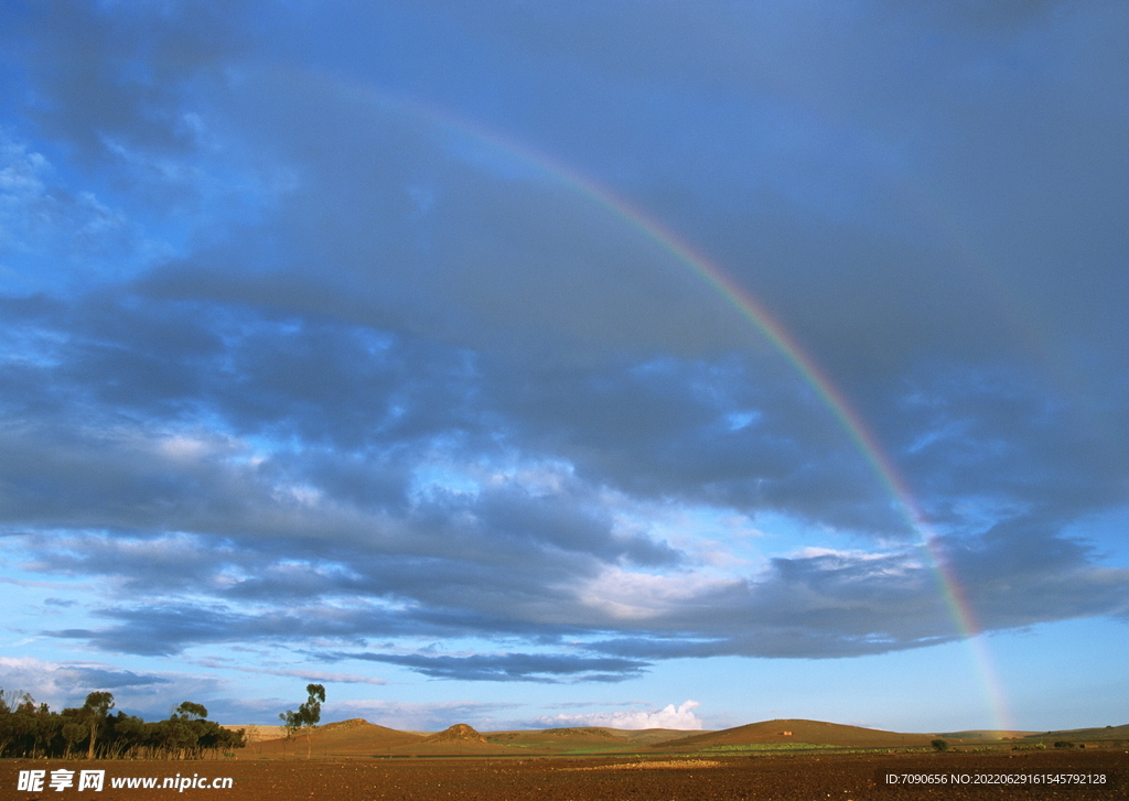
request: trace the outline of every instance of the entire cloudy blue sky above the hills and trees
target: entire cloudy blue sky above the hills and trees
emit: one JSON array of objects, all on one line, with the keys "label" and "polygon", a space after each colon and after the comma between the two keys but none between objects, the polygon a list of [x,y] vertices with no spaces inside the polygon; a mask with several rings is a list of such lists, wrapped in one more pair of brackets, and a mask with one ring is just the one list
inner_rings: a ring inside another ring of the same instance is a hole
[{"label": "entire cloudy blue sky above the hills and trees", "polygon": [[1054,0],[6,3],[0,686],[1124,723],[1127,33]]}]

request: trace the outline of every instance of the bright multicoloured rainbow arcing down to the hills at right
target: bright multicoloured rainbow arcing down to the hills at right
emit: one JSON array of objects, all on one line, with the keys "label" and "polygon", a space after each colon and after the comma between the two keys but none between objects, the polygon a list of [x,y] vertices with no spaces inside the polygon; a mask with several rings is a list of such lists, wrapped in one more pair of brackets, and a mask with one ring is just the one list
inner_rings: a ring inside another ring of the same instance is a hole
[{"label": "bright multicoloured rainbow arcing down to the hills at right", "polygon": [[[356,88],[347,89],[349,94],[357,91]],[[498,132],[483,129],[481,125],[446,109],[437,108],[419,100],[410,100],[404,97],[377,93],[368,88],[362,90],[362,95],[368,102],[375,102],[400,114],[408,114],[421,120],[426,124],[447,129],[462,137],[469,137],[476,143],[499,151],[506,158],[518,159],[522,165],[533,168],[539,174],[545,175],[568,190],[602,206],[641,234],[646,239],[655,243],[660,249],[674,257],[676,262],[693,271],[700,280],[724,298],[729,306],[736,309],[744,319],[782,354],[791,363],[799,377],[822,399],[839,425],[854,441],[858,452],[868,463],[886,492],[896,502],[902,517],[918,538],[918,547],[924,551],[928,564],[933,566],[937,590],[948,608],[959,636],[966,641],[970,646],[974,669],[979,672],[983,685],[992,728],[999,732],[1012,730],[1010,715],[1007,712],[1005,695],[988,652],[987,643],[984,642],[986,636],[977,623],[972,606],[948,564],[942,551],[939,538],[930,527],[924,510],[914,499],[904,478],[902,478],[895,468],[890,456],[879,444],[878,439],[854,410],[842,391],[760,301],[701,252],[695,250],[681,239],[679,235],[607,187],[602,186],[568,165]]]}]

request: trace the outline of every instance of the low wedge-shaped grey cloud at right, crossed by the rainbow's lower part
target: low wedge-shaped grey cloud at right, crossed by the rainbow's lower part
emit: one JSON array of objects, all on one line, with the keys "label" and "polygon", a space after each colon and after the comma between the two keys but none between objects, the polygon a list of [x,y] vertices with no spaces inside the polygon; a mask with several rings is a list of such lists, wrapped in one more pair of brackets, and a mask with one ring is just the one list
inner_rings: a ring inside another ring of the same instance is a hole
[{"label": "low wedge-shaped grey cloud at right, crossed by the rainbow's lower part", "polygon": [[[1032,545],[1030,538],[1023,542]],[[1094,567],[1086,563],[1085,548],[1058,540],[1031,548],[1026,557],[1019,551],[1013,543],[995,554],[972,554],[954,545],[943,556],[953,564],[947,575],[926,566],[930,558],[924,553],[777,558],[756,583],[709,598],[708,622],[674,614],[665,630],[645,625],[640,636],[588,646],[653,660],[833,659],[948,642],[966,636],[970,624],[999,631],[1124,615],[1126,570]],[[927,589],[937,586],[939,595]]]}]

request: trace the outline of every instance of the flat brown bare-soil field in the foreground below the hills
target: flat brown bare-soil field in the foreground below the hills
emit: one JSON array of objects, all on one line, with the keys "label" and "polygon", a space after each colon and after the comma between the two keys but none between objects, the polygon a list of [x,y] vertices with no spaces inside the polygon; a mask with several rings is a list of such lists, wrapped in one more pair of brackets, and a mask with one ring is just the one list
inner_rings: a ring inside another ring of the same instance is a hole
[{"label": "flat brown bare-soil field in the foreground below the hills", "polygon": [[[1023,754],[823,754],[654,758],[402,758],[402,759],[218,759],[199,762],[100,762],[102,793],[17,792],[20,769],[89,768],[90,763],[0,763],[0,799],[93,798],[99,801],[159,799],[326,799],[331,801],[905,801],[917,799],[1070,799],[1123,801],[1129,798],[1129,756],[1124,749],[1031,751]],[[230,790],[114,790],[123,776],[229,776]],[[887,786],[886,774],[1104,774],[1105,784],[1039,786]]]}]

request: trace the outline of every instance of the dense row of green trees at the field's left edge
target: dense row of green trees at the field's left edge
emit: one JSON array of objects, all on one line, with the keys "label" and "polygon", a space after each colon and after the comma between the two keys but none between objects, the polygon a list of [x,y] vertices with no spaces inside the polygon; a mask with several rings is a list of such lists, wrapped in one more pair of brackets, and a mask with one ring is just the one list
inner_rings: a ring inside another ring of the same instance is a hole
[{"label": "dense row of green trees at the field's left edge", "polygon": [[0,757],[71,759],[201,759],[246,745],[243,729],[207,720],[208,710],[185,701],[168,720],[147,723],[119,711],[114,696],[90,693],[79,708],[52,712],[24,693],[0,689]]}]

